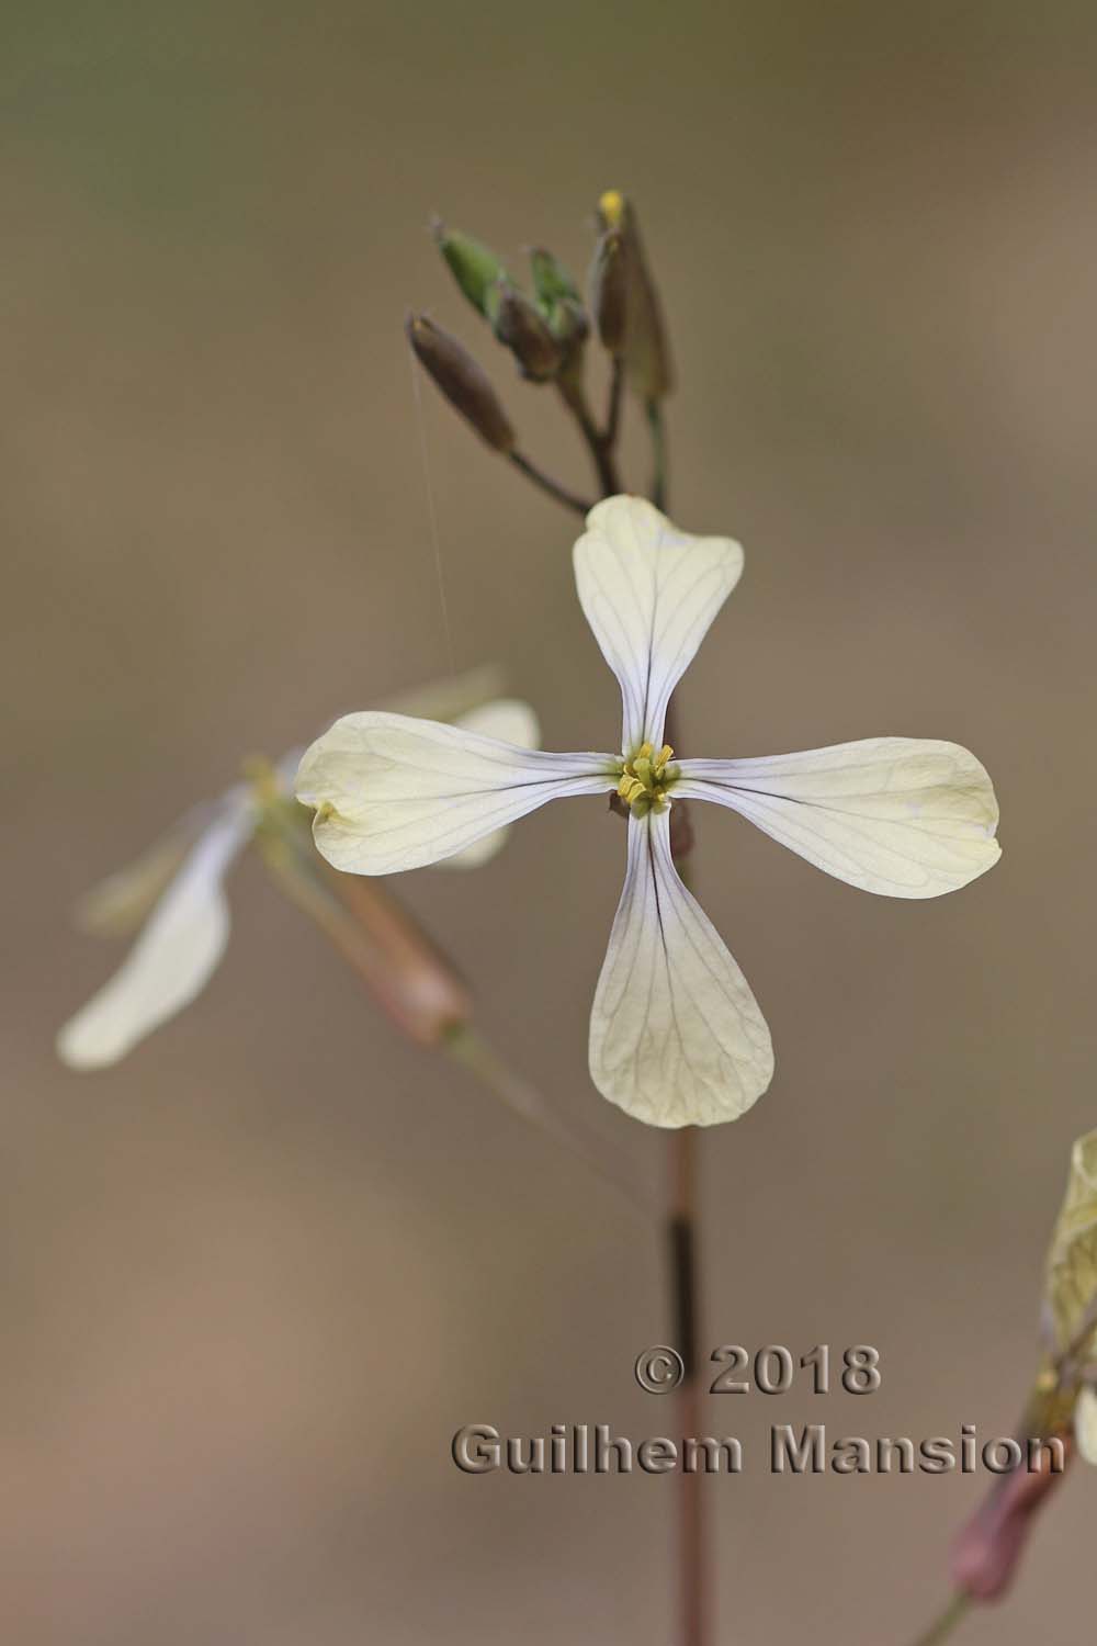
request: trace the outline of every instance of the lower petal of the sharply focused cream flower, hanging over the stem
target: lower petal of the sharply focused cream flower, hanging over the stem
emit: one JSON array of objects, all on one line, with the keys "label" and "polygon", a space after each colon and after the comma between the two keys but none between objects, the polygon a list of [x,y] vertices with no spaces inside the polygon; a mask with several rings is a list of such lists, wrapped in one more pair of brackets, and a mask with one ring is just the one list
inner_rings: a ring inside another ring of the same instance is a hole
[{"label": "lower petal of the sharply focused cream flower, hanging over the stem", "polygon": [[628,820],[628,867],[590,1012],[590,1076],[650,1126],[734,1121],[773,1078],[750,984],[678,877],[669,813]]}]

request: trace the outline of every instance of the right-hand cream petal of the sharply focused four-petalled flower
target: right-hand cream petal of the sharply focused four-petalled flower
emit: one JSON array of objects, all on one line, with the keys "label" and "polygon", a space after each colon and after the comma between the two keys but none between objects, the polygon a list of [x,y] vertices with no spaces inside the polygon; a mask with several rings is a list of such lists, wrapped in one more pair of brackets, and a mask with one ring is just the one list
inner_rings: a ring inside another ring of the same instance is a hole
[{"label": "right-hand cream petal of the sharply focused four-petalled flower", "polygon": [[763,760],[681,760],[683,798],[715,800],[808,863],[888,897],[939,897],[1002,856],[987,772],[956,742],[867,737]]}]

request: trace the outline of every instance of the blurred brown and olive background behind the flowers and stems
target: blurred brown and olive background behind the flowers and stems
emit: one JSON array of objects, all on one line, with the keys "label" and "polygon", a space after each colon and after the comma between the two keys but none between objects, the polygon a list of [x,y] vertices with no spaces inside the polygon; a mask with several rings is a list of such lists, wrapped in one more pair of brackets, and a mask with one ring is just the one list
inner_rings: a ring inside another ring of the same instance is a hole
[{"label": "blurred brown and olive background behind the flowers and stems", "polygon": [[[51,1050],[120,958],[72,933],[84,887],[243,754],[449,667],[405,308],[586,484],[429,212],[584,268],[622,186],[681,372],[674,514],[747,545],[691,751],[944,736],[1002,800],[1002,864],[931,904],[699,820],[778,1052],[704,1139],[706,1338],[885,1371],[709,1402],[755,1458],[711,1483],[720,1641],[903,1646],[985,1480],[775,1480],[761,1444],[1007,1429],[1097,1123],[1092,7],[16,3],[5,35],[3,1639],[669,1639],[673,1478],[449,1462],[474,1420],[666,1432],[632,1381],[668,1333],[655,1231],[396,1039],[250,861],[196,1007],[105,1075]],[[609,744],[571,520],[423,408],[457,665],[503,662],[549,747]],[[622,854],[574,802],[400,890],[656,1183],[586,1075]],[[1095,1509],[1077,1470],[962,1638],[1074,1646]]]}]

